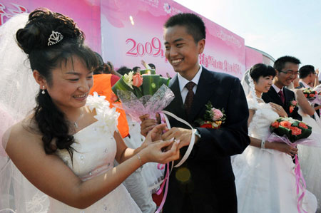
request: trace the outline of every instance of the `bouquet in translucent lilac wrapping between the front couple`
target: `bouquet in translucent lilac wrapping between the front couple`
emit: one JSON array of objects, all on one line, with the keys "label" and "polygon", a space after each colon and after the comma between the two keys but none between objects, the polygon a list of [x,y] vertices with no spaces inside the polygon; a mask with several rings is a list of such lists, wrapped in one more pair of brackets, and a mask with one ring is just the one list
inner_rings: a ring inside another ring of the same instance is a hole
[{"label": "bouquet in translucent lilac wrapping between the front couple", "polygon": [[168,83],[169,78],[156,74],[141,75],[131,71],[120,78],[111,89],[116,98],[121,100],[121,108],[131,115],[133,120],[140,121],[139,117],[145,114],[156,118],[156,113],[161,112],[174,99]]}]

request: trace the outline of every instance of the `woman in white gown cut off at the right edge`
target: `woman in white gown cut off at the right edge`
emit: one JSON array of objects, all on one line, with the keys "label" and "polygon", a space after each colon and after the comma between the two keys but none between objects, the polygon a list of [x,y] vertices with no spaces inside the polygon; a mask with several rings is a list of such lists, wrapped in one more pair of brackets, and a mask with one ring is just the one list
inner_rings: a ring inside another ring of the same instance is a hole
[{"label": "woman in white gown cut off at the right edge", "polygon": [[[299,85],[299,78],[293,81],[296,88]],[[321,133],[320,125],[310,115],[315,115],[315,109],[312,108],[307,98],[300,89],[292,89],[295,92],[295,98],[298,103],[298,113],[302,116],[302,121],[312,127],[312,132]],[[315,115],[317,116],[317,115]],[[321,138],[319,139],[321,143]],[[317,197],[317,213],[321,212],[321,147],[310,147],[298,145],[300,165],[307,183],[307,189]]]}]

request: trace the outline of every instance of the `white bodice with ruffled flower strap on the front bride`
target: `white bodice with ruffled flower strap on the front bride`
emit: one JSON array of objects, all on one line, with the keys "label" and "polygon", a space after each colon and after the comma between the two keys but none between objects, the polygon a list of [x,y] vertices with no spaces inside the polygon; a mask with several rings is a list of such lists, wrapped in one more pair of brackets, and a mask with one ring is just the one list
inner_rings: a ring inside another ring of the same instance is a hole
[{"label": "white bodice with ruffled flower strap on the front bride", "polygon": [[73,160],[67,150],[56,152],[56,155],[83,181],[113,167],[116,155],[113,132],[116,130],[119,115],[115,108],[109,108],[108,101],[98,96],[89,96],[86,105],[90,110],[96,109],[97,121],[73,135],[76,141],[71,145],[74,149]]}]

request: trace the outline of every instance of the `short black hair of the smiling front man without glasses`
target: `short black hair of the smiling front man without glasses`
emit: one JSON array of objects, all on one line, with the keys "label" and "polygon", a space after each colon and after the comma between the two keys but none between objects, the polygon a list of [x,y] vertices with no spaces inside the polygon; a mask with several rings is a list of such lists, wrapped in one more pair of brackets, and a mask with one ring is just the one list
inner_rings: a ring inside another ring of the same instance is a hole
[{"label": "short black hair of the smiling front man without glasses", "polygon": [[200,16],[190,13],[177,14],[171,16],[164,24],[164,28],[171,26],[185,26],[188,34],[193,36],[195,43],[205,39],[205,24]]}]

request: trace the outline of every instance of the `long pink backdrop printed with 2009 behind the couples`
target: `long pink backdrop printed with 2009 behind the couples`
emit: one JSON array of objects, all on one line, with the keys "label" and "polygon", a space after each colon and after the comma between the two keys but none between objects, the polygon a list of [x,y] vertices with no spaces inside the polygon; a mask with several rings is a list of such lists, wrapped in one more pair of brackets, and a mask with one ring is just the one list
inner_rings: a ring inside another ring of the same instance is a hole
[{"label": "long pink backdrop printed with 2009 behind the couples", "polygon": [[[156,65],[157,73],[175,75],[164,56],[163,24],[174,14],[193,12],[170,0],[0,0],[0,26],[21,12],[46,7],[70,16],[86,34],[86,43],[104,61],[120,66]],[[205,51],[200,64],[210,71],[241,78],[245,68],[262,62],[262,54],[244,46],[244,39],[202,17]]]}]

